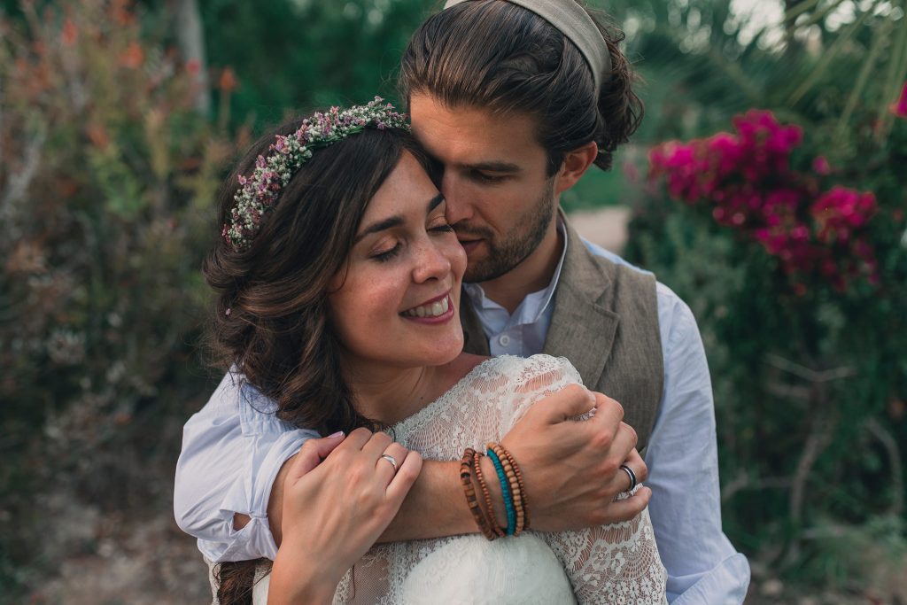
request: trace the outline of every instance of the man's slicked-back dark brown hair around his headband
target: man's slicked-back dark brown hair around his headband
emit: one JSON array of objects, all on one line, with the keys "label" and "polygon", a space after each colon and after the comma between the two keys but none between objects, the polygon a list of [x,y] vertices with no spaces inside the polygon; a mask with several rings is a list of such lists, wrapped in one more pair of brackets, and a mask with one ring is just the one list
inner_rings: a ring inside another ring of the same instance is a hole
[{"label": "man's slicked-back dark brown hair around his headband", "polygon": [[599,145],[595,164],[609,170],[614,151],[639,127],[644,107],[632,90],[637,76],[619,49],[623,33],[583,8],[611,58],[598,95],[589,63],[571,40],[540,16],[500,0],[463,2],[430,16],[406,47],[400,93],[407,101],[428,93],[448,107],[530,113],[548,152],[549,176],[565,153],[589,141]]}]

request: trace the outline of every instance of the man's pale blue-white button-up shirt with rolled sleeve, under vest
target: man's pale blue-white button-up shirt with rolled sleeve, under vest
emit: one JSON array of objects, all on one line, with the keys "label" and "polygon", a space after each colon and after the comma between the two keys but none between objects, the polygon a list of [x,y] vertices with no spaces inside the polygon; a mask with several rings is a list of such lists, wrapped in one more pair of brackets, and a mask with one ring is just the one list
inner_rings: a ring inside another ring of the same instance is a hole
[{"label": "man's pale blue-white button-up shirt with rolled sleeve, under vest", "polygon": [[[561,234],[566,252],[570,242],[564,229]],[[632,267],[616,254],[580,243]],[[478,284],[465,285],[492,355],[541,353],[563,258],[551,284],[524,298],[512,315],[485,298]],[[657,296],[665,380],[646,452],[646,484],[658,552],[668,570],[668,601],[742,603],[749,563],[721,530],[715,405],[702,339],[692,312],[674,292],[659,283]],[[238,378],[225,376],[186,423],[177,464],[177,522],[199,539],[211,561],[274,559],[277,546],[267,520],[271,483],[284,461],[317,436],[278,420],[274,402],[251,385],[238,387]],[[252,519],[239,531],[233,529],[236,512]]]}]

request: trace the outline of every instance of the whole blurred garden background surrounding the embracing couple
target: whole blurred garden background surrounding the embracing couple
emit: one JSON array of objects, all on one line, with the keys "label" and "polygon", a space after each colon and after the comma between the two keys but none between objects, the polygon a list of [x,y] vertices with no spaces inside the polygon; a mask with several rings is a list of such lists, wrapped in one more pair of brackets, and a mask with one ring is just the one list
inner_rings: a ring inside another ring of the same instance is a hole
[{"label": "whole blurred garden background surrounding the embracing couple", "polygon": [[[172,521],[230,161],[392,100],[429,0],[0,0],[0,601],[206,602]],[[753,603],[907,603],[905,0],[612,0],[646,118],[566,195],[693,308]]]}]

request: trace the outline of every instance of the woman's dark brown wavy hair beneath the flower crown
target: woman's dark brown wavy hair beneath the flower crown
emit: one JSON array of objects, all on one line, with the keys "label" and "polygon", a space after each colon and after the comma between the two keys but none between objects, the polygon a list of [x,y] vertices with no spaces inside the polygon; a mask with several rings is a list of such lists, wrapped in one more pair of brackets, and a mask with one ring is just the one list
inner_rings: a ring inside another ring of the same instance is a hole
[{"label": "woman's dark brown wavy hair beneath the flower crown", "polygon": [[[219,194],[219,225],[235,204],[239,176],[254,171],[276,135],[300,124],[287,122],[268,133],[239,162]],[[215,362],[236,366],[245,381],[277,402],[278,417],[290,424],[322,434],[376,428],[356,412],[341,374],[327,297],[368,201],[404,151],[427,168],[424,152],[400,129],[366,128],[315,151],[280,191],[248,249],[235,250],[218,238],[204,260],[202,272],[217,294],[209,329]],[[251,603],[256,570],[268,564],[219,564],[221,605]]]}]

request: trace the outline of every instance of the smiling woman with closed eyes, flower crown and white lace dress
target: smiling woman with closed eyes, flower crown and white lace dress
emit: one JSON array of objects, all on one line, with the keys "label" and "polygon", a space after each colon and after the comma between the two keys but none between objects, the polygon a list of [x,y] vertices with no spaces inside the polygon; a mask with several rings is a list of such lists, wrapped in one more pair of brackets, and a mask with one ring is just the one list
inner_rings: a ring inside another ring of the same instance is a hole
[{"label": "smiling woman with closed eyes, flower crown and white lace dress", "polygon": [[[331,436],[290,467],[270,572],[222,563],[220,603],[249,602],[253,583],[256,603],[665,602],[648,510],[529,531],[519,461],[499,442],[580,376],[562,358],[463,353],[465,254],[427,167],[376,99],[286,124],[224,188],[204,268],[213,343],[268,411]],[[482,533],[375,544],[423,456],[462,460],[449,505],[468,506]]]}]

